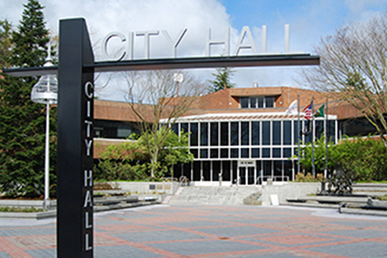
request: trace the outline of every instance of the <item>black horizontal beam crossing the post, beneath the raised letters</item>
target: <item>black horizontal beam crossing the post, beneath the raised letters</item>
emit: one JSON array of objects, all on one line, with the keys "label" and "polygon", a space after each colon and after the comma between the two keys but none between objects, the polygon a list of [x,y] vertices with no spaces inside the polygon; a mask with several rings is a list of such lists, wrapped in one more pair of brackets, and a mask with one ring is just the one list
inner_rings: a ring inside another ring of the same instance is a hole
[{"label": "black horizontal beam crossing the post, beneath the raised letters", "polygon": [[[186,68],[214,68],[214,67],[259,67],[283,65],[319,65],[320,56],[310,54],[282,54],[282,55],[254,55],[254,56],[219,56],[195,58],[165,58],[130,60],[120,62],[95,62],[85,64],[86,68],[94,68],[94,72],[119,72],[133,70],[162,70]],[[4,69],[9,75],[40,76],[58,72],[58,67],[31,67]]]}]

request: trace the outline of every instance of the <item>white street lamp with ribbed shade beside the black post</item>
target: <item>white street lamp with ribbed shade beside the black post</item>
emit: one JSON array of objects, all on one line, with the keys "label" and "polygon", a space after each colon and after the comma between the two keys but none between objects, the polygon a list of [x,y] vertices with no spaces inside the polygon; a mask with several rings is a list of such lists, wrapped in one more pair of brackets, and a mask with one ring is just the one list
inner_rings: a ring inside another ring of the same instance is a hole
[{"label": "white street lamp with ribbed shade beside the black post", "polygon": [[[53,66],[50,49],[44,67]],[[43,75],[34,85],[31,91],[31,100],[36,103],[46,104],[46,147],[45,147],[45,200],[43,208],[50,208],[49,196],[49,171],[50,171],[50,155],[49,155],[49,135],[50,135],[50,104],[58,103],[58,79],[57,75]]]}]

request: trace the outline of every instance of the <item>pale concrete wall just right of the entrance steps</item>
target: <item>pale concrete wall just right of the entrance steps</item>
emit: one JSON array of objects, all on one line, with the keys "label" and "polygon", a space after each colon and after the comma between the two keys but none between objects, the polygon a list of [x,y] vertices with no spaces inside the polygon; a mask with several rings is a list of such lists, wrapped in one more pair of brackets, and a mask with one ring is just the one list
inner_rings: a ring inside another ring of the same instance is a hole
[{"label": "pale concrete wall just right of the entrance steps", "polygon": [[279,203],[286,202],[286,199],[305,197],[308,194],[319,193],[321,183],[287,183],[284,185],[262,186],[262,205],[271,205],[270,195],[278,195]]}]

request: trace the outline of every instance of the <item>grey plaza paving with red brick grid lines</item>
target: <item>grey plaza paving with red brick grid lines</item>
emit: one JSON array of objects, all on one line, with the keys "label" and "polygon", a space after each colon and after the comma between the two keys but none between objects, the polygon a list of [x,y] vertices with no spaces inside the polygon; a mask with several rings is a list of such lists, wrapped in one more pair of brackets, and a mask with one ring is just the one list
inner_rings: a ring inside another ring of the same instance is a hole
[{"label": "grey plaza paving with red brick grid lines", "polygon": [[[0,220],[0,257],[55,257],[55,220]],[[155,205],[94,215],[94,257],[386,257],[387,219],[336,210]]]}]

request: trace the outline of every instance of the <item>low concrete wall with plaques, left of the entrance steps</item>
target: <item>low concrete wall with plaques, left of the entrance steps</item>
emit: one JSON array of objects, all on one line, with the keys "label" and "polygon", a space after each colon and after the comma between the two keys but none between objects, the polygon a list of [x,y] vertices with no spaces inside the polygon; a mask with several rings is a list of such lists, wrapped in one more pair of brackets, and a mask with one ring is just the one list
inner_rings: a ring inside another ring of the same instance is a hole
[{"label": "low concrete wall with plaques, left of the entrance steps", "polygon": [[[167,195],[173,195],[179,188],[177,182],[111,182],[113,186],[118,186],[122,191],[137,193],[158,193],[165,192]],[[152,188],[152,189],[151,189]]]}]

